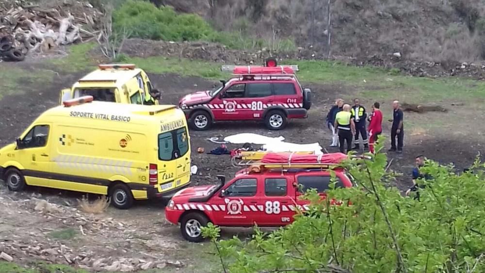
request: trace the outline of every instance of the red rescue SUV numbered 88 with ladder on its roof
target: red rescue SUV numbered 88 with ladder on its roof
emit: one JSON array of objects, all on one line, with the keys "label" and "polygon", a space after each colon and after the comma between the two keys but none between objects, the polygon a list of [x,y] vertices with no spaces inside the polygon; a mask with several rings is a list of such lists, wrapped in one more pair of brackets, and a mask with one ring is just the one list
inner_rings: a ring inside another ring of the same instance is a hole
[{"label": "red rescue SUV numbered 88 with ladder on its roof", "polygon": [[[219,226],[282,226],[293,222],[297,210],[307,210],[308,201],[298,198],[307,189],[316,189],[325,198],[331,183],[330,165],[338,165],[346,155],[323,156],[268,153],[258,163],[242,169],[225,183],[191,187],[176,193],[165,209],[166,219],[180,224],[188,241],[202,241],[201,227],[211,222]],[[334,168],[336,188],[353,186],[351,177]]]}]

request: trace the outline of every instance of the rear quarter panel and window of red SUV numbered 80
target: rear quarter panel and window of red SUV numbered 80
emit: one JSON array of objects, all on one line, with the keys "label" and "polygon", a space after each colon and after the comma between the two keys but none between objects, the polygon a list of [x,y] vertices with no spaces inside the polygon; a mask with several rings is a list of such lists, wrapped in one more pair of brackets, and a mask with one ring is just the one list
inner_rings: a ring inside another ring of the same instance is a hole
[{"label": "rear quarter panel and window of red SUV numbered 80", "polygon": [[287,82],[274,82],[275,103],[283,105],[284,108],[303,108],[303,93],[299,84],[293,80]]}]

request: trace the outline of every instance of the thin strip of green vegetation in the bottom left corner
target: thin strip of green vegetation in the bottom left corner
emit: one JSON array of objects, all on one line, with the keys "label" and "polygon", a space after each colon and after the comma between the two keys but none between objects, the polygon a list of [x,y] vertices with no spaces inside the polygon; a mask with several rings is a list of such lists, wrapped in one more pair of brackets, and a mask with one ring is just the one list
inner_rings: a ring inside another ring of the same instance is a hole
[{"label": "thin strip of green vegetation in the bottom left corner", "polygon": [[19,266],[12,262],[0,262],[0,272],[5,273],[87,273],[63,264],[33,263],[29,267]]}]

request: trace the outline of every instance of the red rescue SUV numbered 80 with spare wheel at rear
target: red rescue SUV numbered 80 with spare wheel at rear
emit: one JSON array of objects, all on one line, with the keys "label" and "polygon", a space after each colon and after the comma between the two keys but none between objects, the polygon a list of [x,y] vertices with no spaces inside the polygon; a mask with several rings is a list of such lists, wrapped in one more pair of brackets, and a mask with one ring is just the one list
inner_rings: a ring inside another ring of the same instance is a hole
[{"label": "red rescue SUV numbered 80 with spare wheel at rear", "polygon": [[306,118],[311,107],[311,91],[296,78],[297,65],[223,65],[234,77],[221,80],[222,86],[184,96],[179,107],[191,127],[206,130],[216,121],[264,121],[271,130],[286,126],[289,119]]}]

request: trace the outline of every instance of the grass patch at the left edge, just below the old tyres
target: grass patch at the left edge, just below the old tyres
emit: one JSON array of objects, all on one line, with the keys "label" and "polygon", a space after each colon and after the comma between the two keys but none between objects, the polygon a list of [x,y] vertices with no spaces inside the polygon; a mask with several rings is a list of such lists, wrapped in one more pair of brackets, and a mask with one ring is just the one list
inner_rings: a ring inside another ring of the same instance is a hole
[{"label": "grass patch at the left edge, just below the old tyres", "polygon": [[26,71],[22,68],[0,66],[0,99],[6,95],[23,94],[22,90],[43,86],[52,81],[54,71],[37,69]]}]

